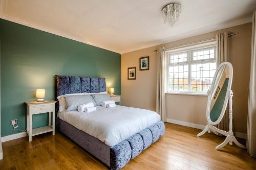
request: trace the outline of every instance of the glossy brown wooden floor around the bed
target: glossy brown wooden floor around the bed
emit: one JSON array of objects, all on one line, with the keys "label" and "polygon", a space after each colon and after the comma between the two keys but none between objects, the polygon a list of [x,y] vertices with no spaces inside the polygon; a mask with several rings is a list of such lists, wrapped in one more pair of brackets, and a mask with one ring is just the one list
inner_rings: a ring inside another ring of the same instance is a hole
[{"label": "glossy brown wooden floor around the bed", "polygon": [[[236,145],[220,151],[224,138],[196,137],[198,129],[166,123],[162,138],[123,169],[256,169],[256,159]],[[50,133],[3,143],[0,169],[108,169],[67,137]]]}]

